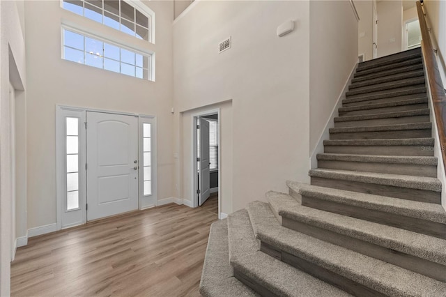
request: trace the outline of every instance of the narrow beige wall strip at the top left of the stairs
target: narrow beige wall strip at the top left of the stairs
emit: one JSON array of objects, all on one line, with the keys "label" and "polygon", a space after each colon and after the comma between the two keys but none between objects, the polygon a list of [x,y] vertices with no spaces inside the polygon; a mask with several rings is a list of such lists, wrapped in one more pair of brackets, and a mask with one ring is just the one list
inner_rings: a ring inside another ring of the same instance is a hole
[{"label": "narrow beige wall strip at the top left of the stairs", "polygon": [[365,54],[364,61],[373,59],[373,1],[355,1],[357,14],[360,16],[358,22],[358,55]]}]

